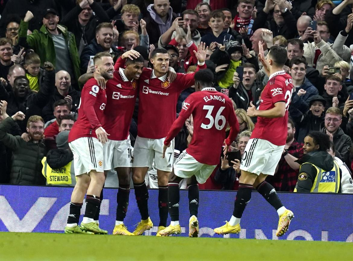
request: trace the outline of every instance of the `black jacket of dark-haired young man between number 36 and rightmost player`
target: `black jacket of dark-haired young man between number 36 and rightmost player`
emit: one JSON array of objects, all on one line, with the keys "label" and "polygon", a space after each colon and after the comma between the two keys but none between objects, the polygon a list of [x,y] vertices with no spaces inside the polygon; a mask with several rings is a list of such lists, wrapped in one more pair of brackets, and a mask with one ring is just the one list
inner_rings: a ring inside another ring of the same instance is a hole
[{"label": "black jacket of dark-haired young man between number 36 and rightmost player", "polygon": [[[257,81],[255,81],[251,86],[252,101],[256,107],[260,105],[259,98],[263,88],[264,86],[262,86],[262,83]],[[233,85],[229,87],[229,98],[232,98],[235,104],[237,104],[238,109],[247,110],[249,107],[249,95],[247,94],[247,91],[242,82],[239,83],[237,89],[235,89]]]}]

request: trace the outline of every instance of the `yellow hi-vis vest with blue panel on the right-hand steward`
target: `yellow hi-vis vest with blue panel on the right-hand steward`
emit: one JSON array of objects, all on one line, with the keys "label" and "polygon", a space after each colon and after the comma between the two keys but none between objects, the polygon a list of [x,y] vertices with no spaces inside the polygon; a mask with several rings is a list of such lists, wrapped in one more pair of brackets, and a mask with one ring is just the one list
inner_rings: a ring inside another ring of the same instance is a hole
[{"label": "yellow hi-vis vest with blue panel on the right-hand steward", "polygon": [[340,168],[336,162],[330,171],[323,170],[309,162],[304,164],[311,164],[317,170],[316,178],[312,184],[310,192],[330,192],[338,193],[341,184]]}]

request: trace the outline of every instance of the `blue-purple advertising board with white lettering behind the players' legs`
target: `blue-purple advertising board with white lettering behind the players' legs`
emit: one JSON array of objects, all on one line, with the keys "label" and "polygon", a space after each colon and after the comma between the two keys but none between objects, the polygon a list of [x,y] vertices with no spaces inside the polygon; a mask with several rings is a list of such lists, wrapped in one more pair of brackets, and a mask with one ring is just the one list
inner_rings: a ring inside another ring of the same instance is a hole
[{"label": "blue-purple advertising board with white lettering behind the players' legs", "polygon": [[[72,190],[68,187],[0,185],[0,231],[62,233]],[[104,188],[99,222],[109,234],[115,224],[116,192],[114,188]],[[240,234],[217,235],[213,228],[225,224],[232,216],[235,195],[235,191],[200,191],[199,236],[353,242],[353,195],[348,194],[278,193],[283,205],[293,211],[294,218],[289,231],[277,238],[276,210],[254,191],[241,219],[243,229]],[[149,214],[155,226],[145,235],[156,235],[159,221],[157,199],[158,190],[149,190]],[[133,231],[139,221],[134,191],[131,190],[124,224]],[[180,192],[180,225],[181,236],[187,236],[189,205],[185,190]]]}]

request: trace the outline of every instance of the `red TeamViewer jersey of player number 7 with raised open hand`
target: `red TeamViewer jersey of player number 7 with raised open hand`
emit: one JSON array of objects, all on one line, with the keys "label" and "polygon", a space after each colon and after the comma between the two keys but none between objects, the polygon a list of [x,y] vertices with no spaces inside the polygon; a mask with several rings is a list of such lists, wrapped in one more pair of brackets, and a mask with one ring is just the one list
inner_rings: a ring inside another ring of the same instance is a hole
[{"label": "red TeamViewer jersey of player number 7 with raised open hand", "polygon": [[[124,67],[125,60],[118,60],[114,69]],[[196,71],[206,65],[197,65]],[[162,139],[177,117],[177,101],[180,93],[194,85],[195,73],[177,74],[177,79],[168,81],[167,74],[157,78],[154,71],[144,68],[139,79],[139,105],[137,135],[141,138]]]}]

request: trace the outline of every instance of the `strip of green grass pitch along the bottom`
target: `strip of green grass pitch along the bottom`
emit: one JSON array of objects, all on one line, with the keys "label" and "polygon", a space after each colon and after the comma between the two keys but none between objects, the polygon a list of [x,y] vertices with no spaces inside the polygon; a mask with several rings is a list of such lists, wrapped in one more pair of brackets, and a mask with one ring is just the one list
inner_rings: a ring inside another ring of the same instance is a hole
[{"label": "strip of green grass pitch along the bottom", "polygon": [[352,260],[352,243],[232,238],[0,233],[1,261]]}]

